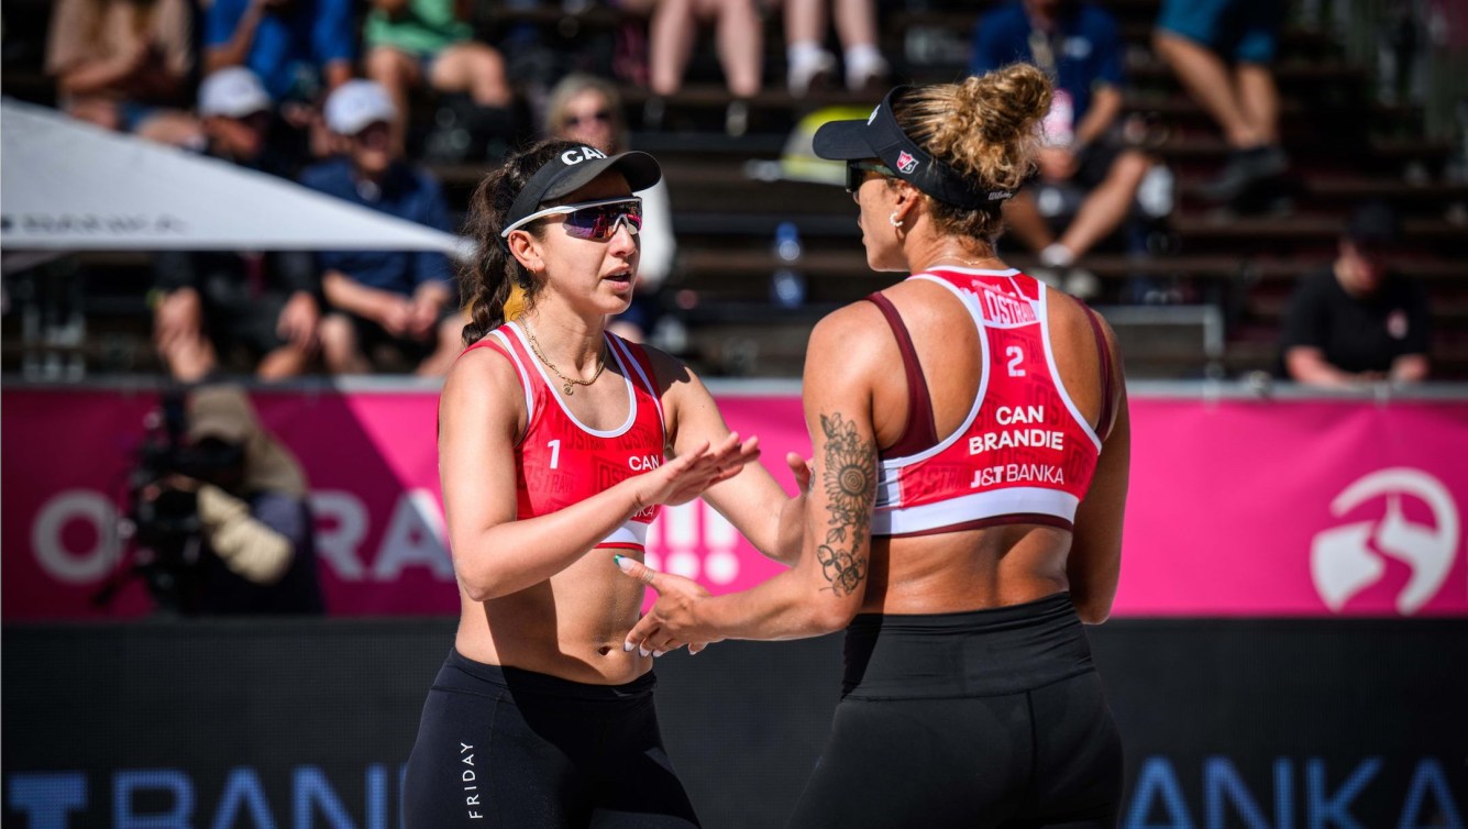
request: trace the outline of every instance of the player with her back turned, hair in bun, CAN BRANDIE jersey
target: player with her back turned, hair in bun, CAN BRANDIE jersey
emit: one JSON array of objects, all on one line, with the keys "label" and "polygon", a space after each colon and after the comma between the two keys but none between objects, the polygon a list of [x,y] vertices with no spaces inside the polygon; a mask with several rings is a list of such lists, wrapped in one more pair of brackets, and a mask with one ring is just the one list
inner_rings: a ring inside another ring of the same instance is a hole
[{"label": "player with her back turned, hair in bun, CAN BRANDIE jersey", "polygon": [[790,825],[1111,826],[1122,744],[1082,622],[1120,568],[1129,427],[1113,336],[995,255],[1050,82],[893,90],[815,151],[847,164],[866,261],[906,279],[824,318],[799,563],[743,593],[625,562],[643,649],[846,627],[831,737]]}]

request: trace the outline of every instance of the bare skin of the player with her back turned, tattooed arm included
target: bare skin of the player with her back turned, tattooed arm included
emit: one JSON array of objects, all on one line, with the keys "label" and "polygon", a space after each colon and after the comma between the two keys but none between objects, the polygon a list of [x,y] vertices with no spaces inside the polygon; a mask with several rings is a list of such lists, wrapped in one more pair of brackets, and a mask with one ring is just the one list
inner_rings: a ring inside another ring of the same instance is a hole
[{"label": "bare skin of the player with her back turned, tattooed arm included", "polygon": [[[860,208],[857,224],[866,261],[873,270],[919,273],[935,264],[1007,267],[982,241],[940,233],[926,197],[906,182],[868,172],[853,195]],[[929,392],[938,434],[951,434],[967,417],[984,370],[970,317],[951,293],[928,282],[900,282],[884,293],[907,324],[923,373],[945,379],[931,383]],[[868,537],[849,556],[866,562],[865,583],[851,580],[847,584],[856,587],[843,590],[831,580],[831,566],[822,572],[813,555],[822,540],[818,534],[831,515],[843,511],[832,499],[832,487],[821,486],[831,480],[832,434],[841,431],[847,443],[872,448],[865,459],[857,453],[860,464],[849,465],[844,474],[875,481],[875,446],[893,446],[907,426],[907,384],[901,371],[893,371],[901,365],[897,342],[872,335],[887,330],[876,305],[856,302],[821,320],[806,352],[802,392],[818,484],[809,494],[807,531],[797,566],[755,588],[718,597],[708,597],[680,577],[631,566],[630,575],[650,580],[661,596],[628,641],[668,649],[688,638],[797,638],[840,629],[857,612],[975,610],[1063,590],[1070,591],[1085,622],[1104,621],[1120,575],[1130,443],[1124,386],[1117,377],[1113,389],[1101,387],[1095,336],[1078,302],[1051,293],[1048,314],[1055,367],[1082,417],[1098,426],[1104,398],[1113,395],[1116,403],[1114,421],[1100,424],[1110,426],[1110,434],[1091,490],[1076,512],[1075,533],[1011,524],[932,536]],[[1107,339],[1113,365],[1119,367],[1110,332]],[[832,430],[837,414],[841,428]],[[853,525],[869,527],[871,515],[868,497]]]}]

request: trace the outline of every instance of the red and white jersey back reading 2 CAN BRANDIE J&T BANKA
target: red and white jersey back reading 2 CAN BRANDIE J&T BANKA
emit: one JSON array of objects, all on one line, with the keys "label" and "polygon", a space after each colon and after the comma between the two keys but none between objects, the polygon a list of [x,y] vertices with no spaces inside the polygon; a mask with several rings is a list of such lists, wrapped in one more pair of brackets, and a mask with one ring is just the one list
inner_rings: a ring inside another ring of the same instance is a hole
[{"label": "red and white jersey back reading 2 CAN BRANDIE J&T BANKA", "polygon": [[[979,333],[984,374],[956,431],[934,434],[935,442],[918,448],[901,449],[909,443],[903,440],[894,449],[909,453],[881,458],[872,534],[920,536],[1011,522],[1072,528],[1095,474],[1101,439],[1055,370],[1044,283],[1017,270],[947,267],[909,279],[935,282],[963,302]],[[1102,342],[1100,329],[1097,336]],[[906,330],[898,339],[906,339]],[[1108,371],[1102,352],[1102,376]],[[920,384],[920,371],[918,377]],[[909,405],[910,420],[931,411],[926,386],[910,389],[909,398],[915,393],[922,399]]]}]

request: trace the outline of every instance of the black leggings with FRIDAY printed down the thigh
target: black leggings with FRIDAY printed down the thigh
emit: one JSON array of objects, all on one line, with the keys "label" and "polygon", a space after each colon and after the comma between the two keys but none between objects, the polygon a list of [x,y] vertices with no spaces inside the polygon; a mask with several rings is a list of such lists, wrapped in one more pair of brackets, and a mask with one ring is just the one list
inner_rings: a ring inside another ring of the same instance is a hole
[{"label": "black leggings with FRIDAY printed down the thigh", "polygon": [[586,685],[451,651],[404,778],[407,829],[697,826],[652,673]]}]

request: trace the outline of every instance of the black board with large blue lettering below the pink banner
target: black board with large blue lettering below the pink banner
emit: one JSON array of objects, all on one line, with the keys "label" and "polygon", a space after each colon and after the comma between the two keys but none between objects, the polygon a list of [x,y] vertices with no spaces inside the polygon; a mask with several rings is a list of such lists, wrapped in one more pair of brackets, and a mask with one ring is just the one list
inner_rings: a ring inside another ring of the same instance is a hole
[{"label": "black board with large blue lettering below the pink banner", "polygon": [[[1127,829],[1464,829],[1468,621],[1119,619],[1091,640]],[[396,829],[454,622],[6,627],[7,829]],[[840,635],[658,662],[705,826],[782,826],[840,690]]]}]

